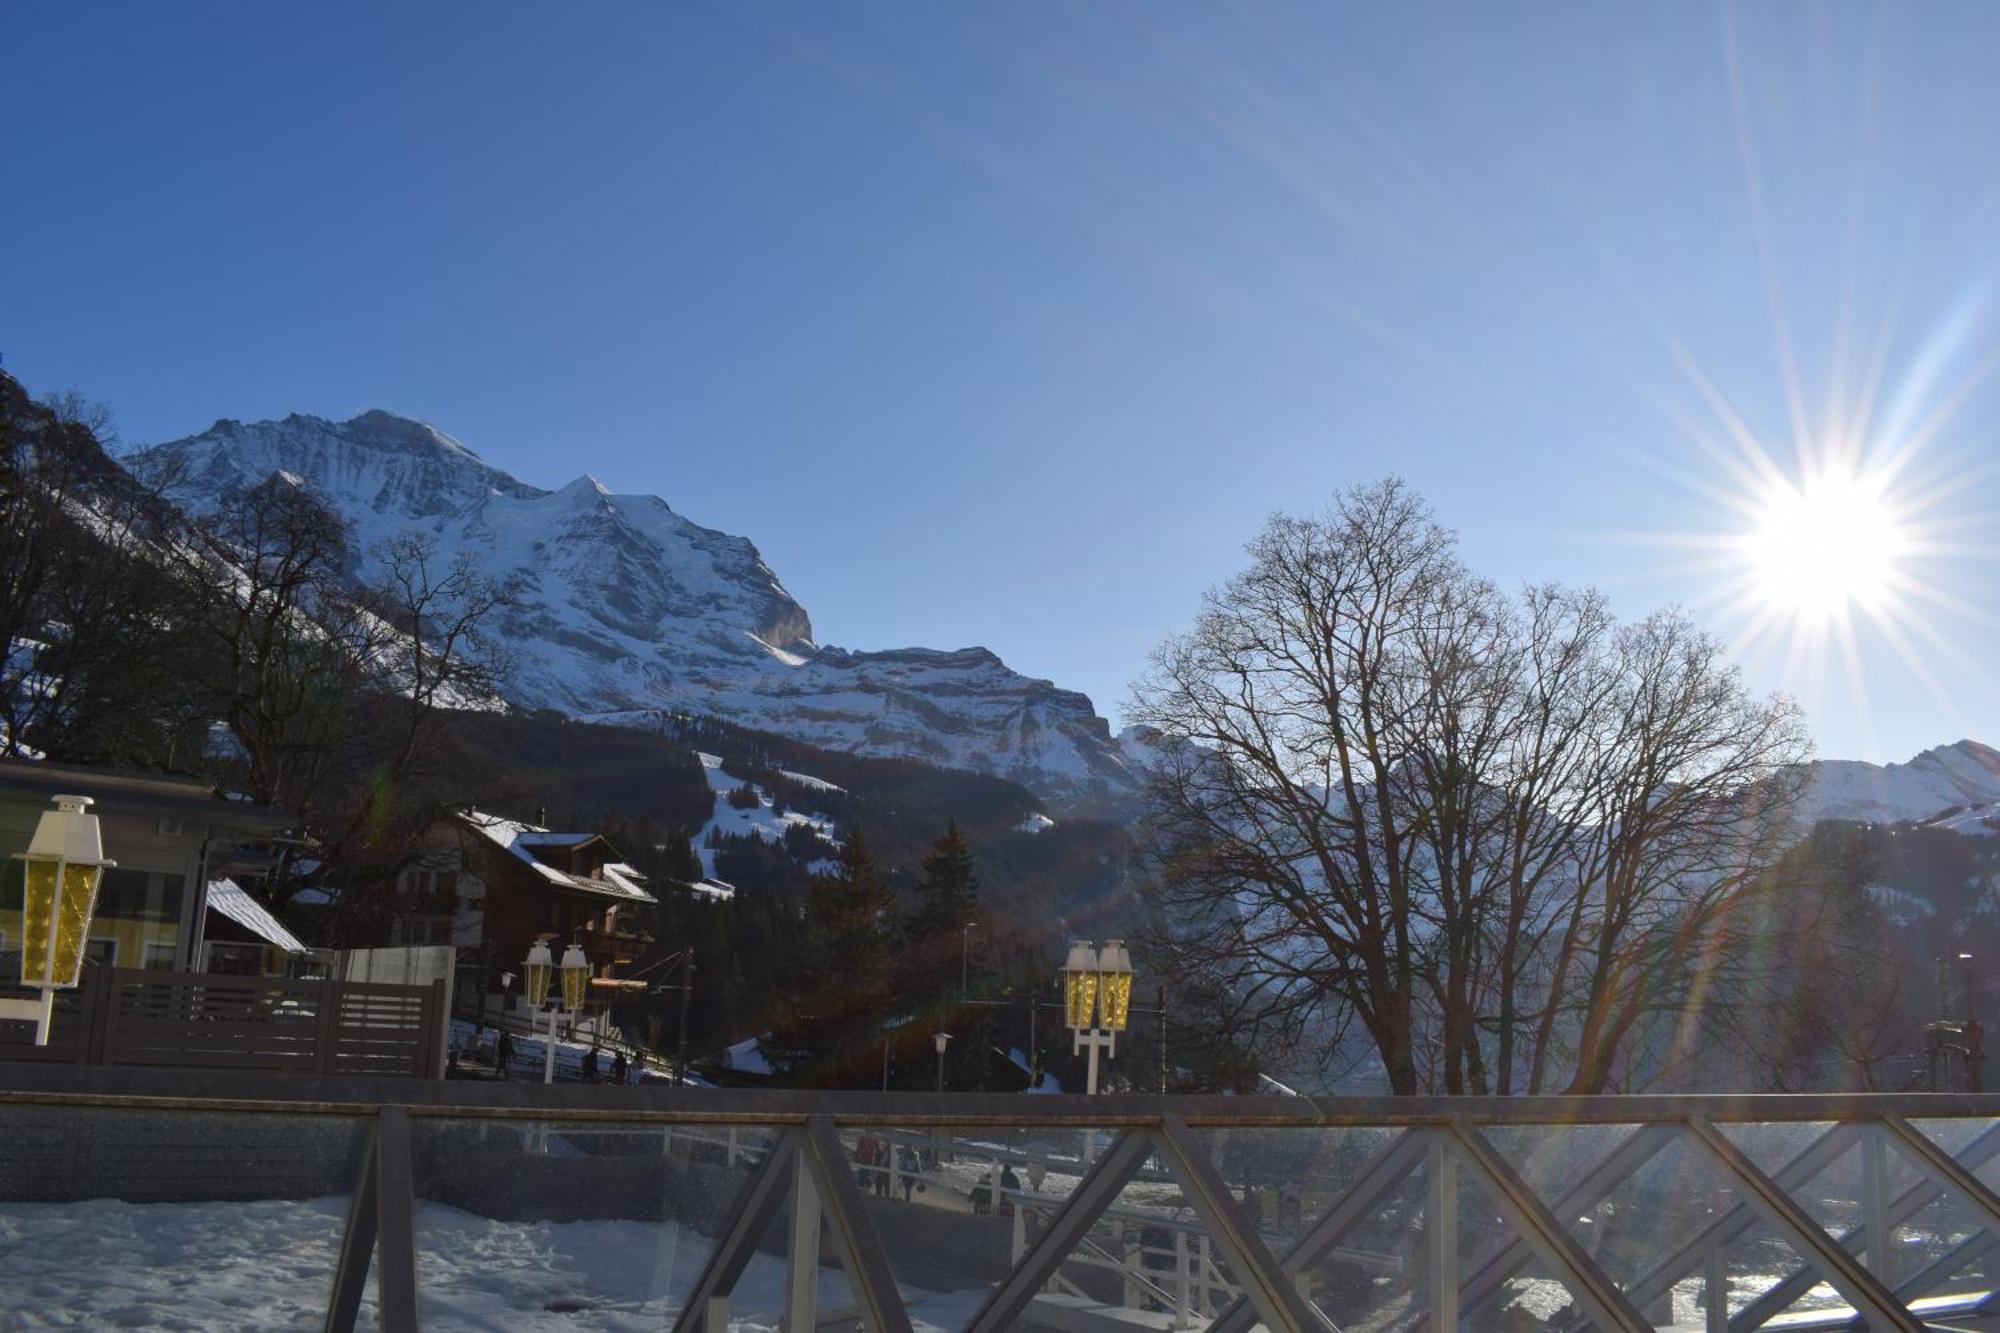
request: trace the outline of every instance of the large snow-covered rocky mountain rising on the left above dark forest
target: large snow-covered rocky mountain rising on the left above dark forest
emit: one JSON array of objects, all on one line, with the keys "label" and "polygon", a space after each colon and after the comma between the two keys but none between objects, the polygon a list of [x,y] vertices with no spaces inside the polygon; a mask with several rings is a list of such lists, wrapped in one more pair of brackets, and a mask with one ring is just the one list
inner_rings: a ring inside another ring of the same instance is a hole
[{"label": "large snow-covered rocky mountain rising on the left above dark forest", "polygon": [[542,490],[390,412],[218,420],[130,462],[172,468],[192,508],[288,472],[354,524],[362,578],[370,546],[412,528],[436,534],[448,558],[470,552],[520,588],[504,632],[518,662],[510,693],[530,709],[630,723],[706,713],[828,749],[994,773],[1058,803],[1136,785],[1084,695],[986,648],[822,646],[748,538],[658,496],[614,494],[588,474]]}]

